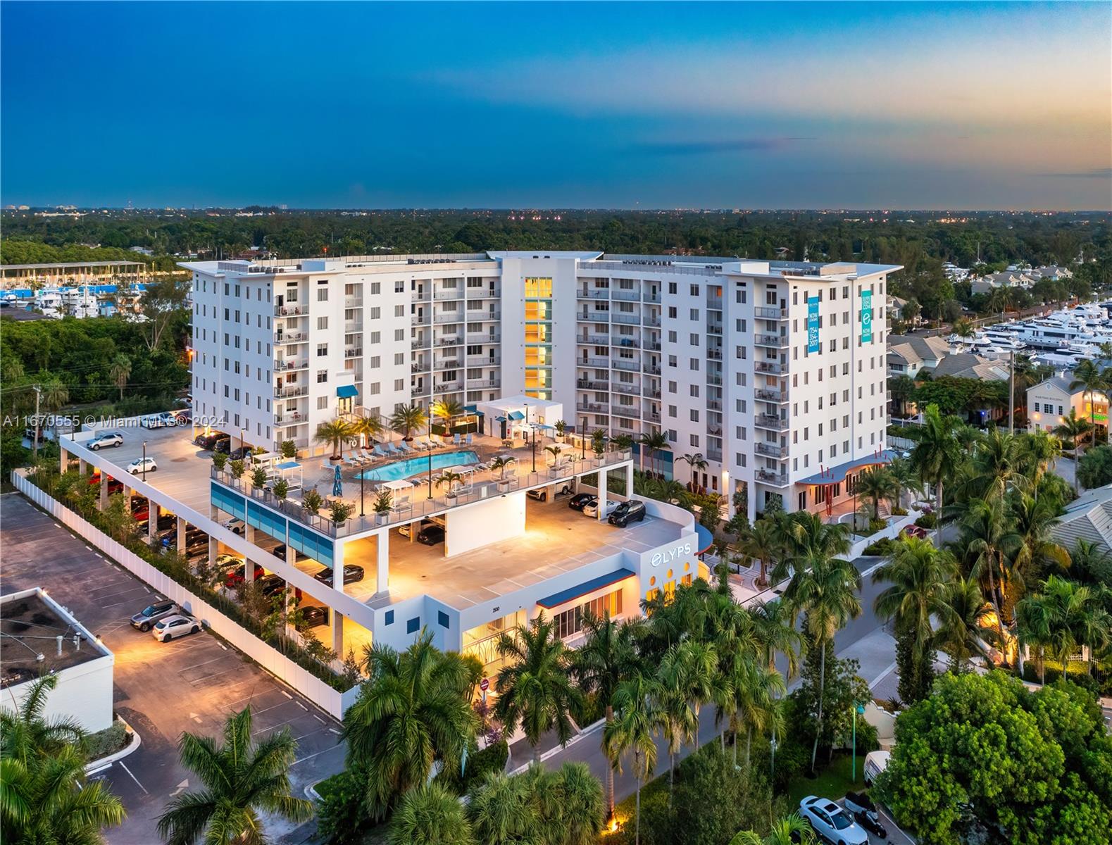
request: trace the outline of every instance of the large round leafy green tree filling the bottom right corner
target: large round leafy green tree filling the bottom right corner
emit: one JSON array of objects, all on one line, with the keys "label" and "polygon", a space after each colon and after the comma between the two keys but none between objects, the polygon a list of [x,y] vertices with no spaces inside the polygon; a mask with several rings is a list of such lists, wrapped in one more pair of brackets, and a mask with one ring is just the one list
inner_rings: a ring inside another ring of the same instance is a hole
[{"label": "large round leafy green tree filling the bottom right corner", "polygon": [[1112,737],[1073,684],[1032,694],[1000,672],[946,675],[896,720],[877,789],[924,845],[960,842],[965,814],[1021,845],[1106,843]]}]

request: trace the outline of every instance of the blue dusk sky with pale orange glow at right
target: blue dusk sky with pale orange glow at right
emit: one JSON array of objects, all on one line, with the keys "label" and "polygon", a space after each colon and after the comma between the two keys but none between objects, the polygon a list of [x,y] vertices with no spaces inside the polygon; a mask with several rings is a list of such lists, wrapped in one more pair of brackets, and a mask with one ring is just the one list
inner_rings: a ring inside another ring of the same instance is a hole
[{"label": "blue dusk sky with pale orange glow at right", "polygon": [[1112,206],[1109,3],[0,14],[3,203]]}]

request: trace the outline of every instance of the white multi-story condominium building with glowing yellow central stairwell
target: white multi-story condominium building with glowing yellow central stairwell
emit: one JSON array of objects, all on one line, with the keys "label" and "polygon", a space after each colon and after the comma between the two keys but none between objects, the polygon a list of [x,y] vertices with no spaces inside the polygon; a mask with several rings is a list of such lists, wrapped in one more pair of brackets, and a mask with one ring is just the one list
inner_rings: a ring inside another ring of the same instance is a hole
[{"label": "white multi-story condominium building with glowing yellow central stairwell", "polygon": [[751,518],[774,498],[847,503],[886,458],[898,266],[538,250],[182,267],[195,414],[250,445],[315,451],[337,415],[524,394],[572,430],[663,431],[645,469],[744,490]]}]

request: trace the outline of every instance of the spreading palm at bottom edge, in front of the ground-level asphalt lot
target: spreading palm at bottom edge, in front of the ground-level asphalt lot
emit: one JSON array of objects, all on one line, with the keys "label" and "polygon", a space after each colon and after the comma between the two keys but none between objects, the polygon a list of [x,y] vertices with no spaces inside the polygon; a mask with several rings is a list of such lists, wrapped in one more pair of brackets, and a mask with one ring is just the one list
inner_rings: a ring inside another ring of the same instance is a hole
[{"label": "spreading palm at bottom edge, in front of the ground-level asphalt lot", "polygon": [[158,834],[167,845],[262,845],[260,813],[290,822],[312,817],[312,804],[290,794],[297,743],[289,728],[256,742],[251,724],[251,708],[245,707],[225,722],[222,744],[189,733],[178,739],[181,765],[203,788],[173,798],[159,817]]}]

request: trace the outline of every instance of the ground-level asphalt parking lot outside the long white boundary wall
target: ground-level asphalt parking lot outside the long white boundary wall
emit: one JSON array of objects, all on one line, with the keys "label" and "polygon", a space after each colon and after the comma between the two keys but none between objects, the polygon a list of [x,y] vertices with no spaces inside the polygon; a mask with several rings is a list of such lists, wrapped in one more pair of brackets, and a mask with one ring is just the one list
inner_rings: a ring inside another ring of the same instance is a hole
[{"label": "ground-level asphalt parking lot outside the long white boundary wall", "polygon": [[[127,822],[109,833],[110,842],[158,842],[155,825],[169,798],[199,786],[178,763],[178,736],[183,730],[217,735],[227,714],[247,705],[255,712],[256,733],[288,727],[297,739],[296,794],[342,768],[340,726],[311,702],[208,633],[160,644],[131,628],[131,615],[157,595],[18,494],[0,497],[0,524],[3,593],[46,588],[116,655],[116,710],[142,744],[96,774],[128,811]],[[300,841],[282,825],[271,828],[275,841],[282,834]]]}]

